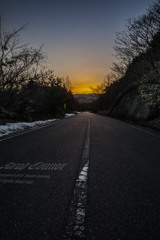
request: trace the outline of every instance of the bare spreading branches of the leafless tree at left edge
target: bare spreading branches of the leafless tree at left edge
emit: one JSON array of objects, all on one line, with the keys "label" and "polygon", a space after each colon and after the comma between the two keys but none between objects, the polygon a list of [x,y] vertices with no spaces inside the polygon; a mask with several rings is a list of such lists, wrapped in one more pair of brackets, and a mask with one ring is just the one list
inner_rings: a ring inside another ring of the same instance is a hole
[{"label": "bare spreading branches of the leafless tree at left edge", "polygon": [[8,100],[9,93],[18,91],[29,80],[31,70],[38,69],[45,58],[42,47],[34,49],[21,43],[19,34],[25,28],[24,25],[6,32],[0,17],[0,92],[7,93]]}]

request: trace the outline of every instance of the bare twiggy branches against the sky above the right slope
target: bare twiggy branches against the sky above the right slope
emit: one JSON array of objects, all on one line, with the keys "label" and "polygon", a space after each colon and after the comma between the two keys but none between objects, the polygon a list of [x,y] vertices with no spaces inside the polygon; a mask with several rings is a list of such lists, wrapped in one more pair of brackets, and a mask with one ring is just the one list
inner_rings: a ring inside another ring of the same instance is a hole
[{"label": "bare twiggy branches against the sky above the right slope", "polygon": [[[128,20],[125,30],[116,33],[115,57],[117,61],[113,63],[112,70],[117,76],[125,75],[128,66],[133,59],[147,53],[143,58],[145,64],[150,64],[151,71],[157,68],[154,55],[149,51],[153,46],[155,35],[160,31],[160,0],[154,3],[146,14],[138,18]],[[150,53],[150,54],[148,54]]]}]

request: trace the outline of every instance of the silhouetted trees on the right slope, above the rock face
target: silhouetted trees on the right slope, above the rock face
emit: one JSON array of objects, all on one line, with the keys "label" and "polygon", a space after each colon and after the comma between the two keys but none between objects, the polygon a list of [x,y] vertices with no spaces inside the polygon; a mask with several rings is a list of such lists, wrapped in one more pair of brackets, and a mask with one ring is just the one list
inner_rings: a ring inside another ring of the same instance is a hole
[{"label": "silhouetted trees on the right slope, above the rock face", "polygon": [[142,82],[160,81],[160,0],[147,13],[129,19],[125,30],[116,34],[115,74],[96,102],[97,110],[109,109],[121,93]]}]

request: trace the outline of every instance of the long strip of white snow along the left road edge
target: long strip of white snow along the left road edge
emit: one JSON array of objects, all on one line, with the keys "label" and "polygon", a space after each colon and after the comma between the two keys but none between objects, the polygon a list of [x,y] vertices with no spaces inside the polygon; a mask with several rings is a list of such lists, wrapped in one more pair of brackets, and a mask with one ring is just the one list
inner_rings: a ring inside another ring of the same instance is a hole
[{"label": "long strip of white snow along the left road edge", "polygon": [[46,121],[35,121],[35,122],[7,123],[6,125],[0,125],[0,137],[6,136],[18,130],[23,130],[23,129],[27,129],[35,126],[42,126],[44,124],[51,123],[54,121],[56,121],[56,119],[50,119]]}]

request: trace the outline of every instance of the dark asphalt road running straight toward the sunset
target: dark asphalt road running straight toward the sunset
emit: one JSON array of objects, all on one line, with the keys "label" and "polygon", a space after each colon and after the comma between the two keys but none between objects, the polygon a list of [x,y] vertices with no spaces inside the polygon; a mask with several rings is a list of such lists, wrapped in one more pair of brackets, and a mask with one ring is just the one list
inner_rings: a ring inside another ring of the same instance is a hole
[{"label": "dark asphalt road running straight toward the sunset", "polygon": [[160,135],[81,113],[1,139],[0,239],[160,239]]}]

